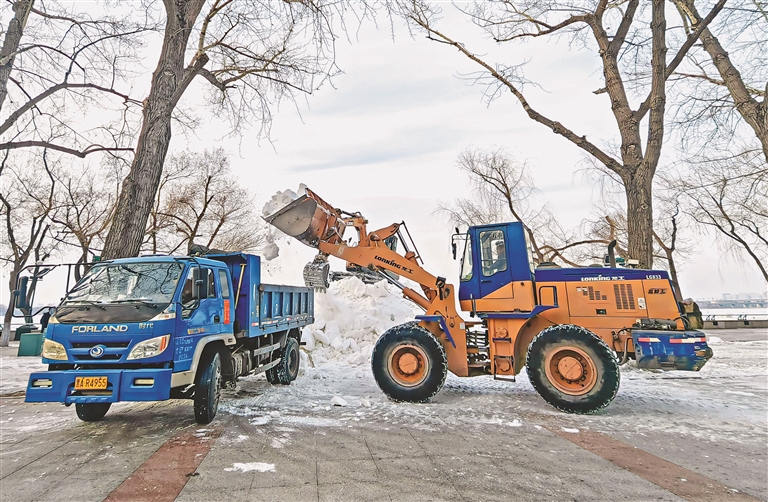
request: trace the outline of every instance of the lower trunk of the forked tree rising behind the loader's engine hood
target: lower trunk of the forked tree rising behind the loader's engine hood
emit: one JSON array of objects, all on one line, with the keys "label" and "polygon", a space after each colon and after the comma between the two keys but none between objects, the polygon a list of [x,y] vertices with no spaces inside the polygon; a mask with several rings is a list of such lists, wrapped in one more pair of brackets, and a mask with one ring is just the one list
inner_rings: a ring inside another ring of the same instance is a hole
[{"label": "lower trunk of the forked tree rising behind the loader's engine hood", "polygon": [[653,267],[652,175],[641,171],[624,181],[627,195],[627,259],[639,267]]}]

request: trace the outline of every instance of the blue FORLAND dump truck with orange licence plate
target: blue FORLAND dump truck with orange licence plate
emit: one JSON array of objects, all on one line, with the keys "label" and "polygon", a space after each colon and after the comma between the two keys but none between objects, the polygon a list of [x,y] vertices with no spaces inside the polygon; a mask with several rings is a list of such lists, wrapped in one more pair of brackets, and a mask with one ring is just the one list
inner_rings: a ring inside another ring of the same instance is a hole
[{"label": "blue FORLAND dump truck with orange licence plate", "polygon": [[[26,311],[29,283],[20,277],[15,292]],[[291,383],[300,330],[313,321],[313,290],[263,284],[258,256],[98,262],[50,318],[48,371],[30,376],[26,401],[74,403],[90,422],[119,401],[191,399],[195,419],[207,424],[221,388],[235,388],[239,376],[266,372],[271,383]]]}]

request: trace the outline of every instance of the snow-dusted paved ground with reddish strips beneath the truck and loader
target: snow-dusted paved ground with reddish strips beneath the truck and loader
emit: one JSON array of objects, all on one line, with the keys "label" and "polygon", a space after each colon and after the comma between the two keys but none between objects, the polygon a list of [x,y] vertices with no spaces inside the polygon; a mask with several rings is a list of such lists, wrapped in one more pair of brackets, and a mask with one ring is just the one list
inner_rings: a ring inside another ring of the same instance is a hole
[{"label": "snow-dusted paved ground with reddish strips beneath the truck and loader", "polygon": [[429,404],[392,403],[366,367],[249,378],[205,427],[187,402],[86,424],[4,397],[0,500],[766,500],[768,333],[746,331],[710,332],[700,373],[626,368],[588,417],[556,412],[524,376],[449,378]]}]

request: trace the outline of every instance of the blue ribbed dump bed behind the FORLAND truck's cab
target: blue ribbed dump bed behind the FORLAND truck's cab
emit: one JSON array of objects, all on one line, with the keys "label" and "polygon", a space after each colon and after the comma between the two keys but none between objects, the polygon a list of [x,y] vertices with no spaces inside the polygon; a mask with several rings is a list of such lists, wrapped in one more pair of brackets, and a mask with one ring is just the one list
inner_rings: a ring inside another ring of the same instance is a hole
[{"label": "blue ribbed dump bed behind the FORLAND truck's cab", "polygon": [[236,335],[248,338],[301,328],[314,322],[315,304],[311,288],[261,283],[258,256],[229,253],[211,255],[229,268],[235,292]]}]

